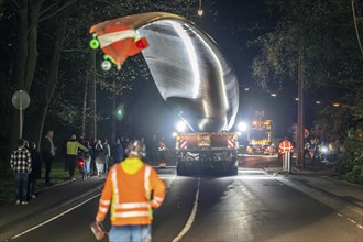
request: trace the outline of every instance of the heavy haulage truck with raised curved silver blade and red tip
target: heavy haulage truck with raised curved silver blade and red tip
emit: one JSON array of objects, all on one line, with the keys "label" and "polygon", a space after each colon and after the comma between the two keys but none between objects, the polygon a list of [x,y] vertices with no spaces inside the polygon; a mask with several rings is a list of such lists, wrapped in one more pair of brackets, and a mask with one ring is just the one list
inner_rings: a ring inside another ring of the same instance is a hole
[{"label": "heavy haulage truck with raised curved silver blade and red tip", "polygon": [[237,174],[237,135],[228,131],[239,110],[239,82],[209,34],[166,12],[106,21],[90,33],[97,38],[91,46],[100,46],[118,69],[141,52],[160,94],[188,124],[188,133],[178,134],[178,174],[202,167]]}]

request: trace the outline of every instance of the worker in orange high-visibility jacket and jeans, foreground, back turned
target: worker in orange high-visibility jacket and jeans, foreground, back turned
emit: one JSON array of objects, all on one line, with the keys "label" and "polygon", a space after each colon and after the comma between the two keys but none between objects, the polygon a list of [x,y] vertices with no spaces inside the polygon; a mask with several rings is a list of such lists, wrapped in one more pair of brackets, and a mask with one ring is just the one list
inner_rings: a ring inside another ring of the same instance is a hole
[{"label": "worker in orange high-visibility jacket and jeans, foreground, back turned", "polygon": [[102,222],[110,208],[110,242],[151,241],[152,208],[162,205],[165,184],[153,167],[142,162],[145,148],[141,141],[130,142],[127,153],[128,158],[109,170],[96,222]]}]

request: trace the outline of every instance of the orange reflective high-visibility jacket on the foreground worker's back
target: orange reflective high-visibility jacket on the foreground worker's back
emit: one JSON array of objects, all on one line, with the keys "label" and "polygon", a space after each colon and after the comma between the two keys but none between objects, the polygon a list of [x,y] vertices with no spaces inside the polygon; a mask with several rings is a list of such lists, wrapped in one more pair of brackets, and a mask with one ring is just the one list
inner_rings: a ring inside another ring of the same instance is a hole
[{"label": "orange reflective high-visibility jacket on the foreground worker's back", "polygon": [[112,226],[151,224],[152,208],[158,208],[164,198],[165,184],[153,167],[143,164],[135,174],[128,174],[119,163],[109,170],[96,220],[103,221],[111,207]]}]

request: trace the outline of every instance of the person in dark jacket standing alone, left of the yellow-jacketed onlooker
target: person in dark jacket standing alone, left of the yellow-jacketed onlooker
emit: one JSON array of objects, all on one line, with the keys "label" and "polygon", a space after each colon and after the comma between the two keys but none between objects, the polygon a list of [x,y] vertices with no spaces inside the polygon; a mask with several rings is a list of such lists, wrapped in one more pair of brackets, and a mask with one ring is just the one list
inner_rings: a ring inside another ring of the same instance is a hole
[{"label": "person in dark jacket standing alone, left of the yellow-jacketed onlooker", "polygon": [[55,156],[55,147],[53,144],[53,131],[50,130],[42,142],[42,158],[45,163],[45,184],[51,185],[52,163]]}]

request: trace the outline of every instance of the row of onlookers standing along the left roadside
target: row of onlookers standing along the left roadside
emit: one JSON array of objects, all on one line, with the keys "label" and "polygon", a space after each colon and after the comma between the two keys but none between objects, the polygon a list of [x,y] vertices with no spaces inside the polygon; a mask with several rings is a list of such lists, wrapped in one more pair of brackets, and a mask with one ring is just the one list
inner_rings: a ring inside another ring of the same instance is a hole
[{"label": "row of onlookers standing along the left roadside", "polygon": [[[75,134],[66,142],[65,170],[69,172],[69,179],[75,179],[75,169],[77,162],[82,158],[85,162],[86,178],[92,173],[102,176],[107,174],[111,164],[123,161],[127,156],[129,138],[117,139],[114,144],[110,145],[108,140],[103,142],[99,139],[87,141],[82,135],[77,139]],[[145,139],[142,138],[146,146]],[[164,138],[160,141],[153,135],[148,142],[150,148],[145,161],[165,163],[166,143]],[[45,185],[52,185],[51,170],[55,158],[56,147],[53,143],[53,131],[47,131],[42,140],[41,153],[36,144],[29,144],[25,140],[19,140],[18,148],[11,155],[11,168],[14,173],[16,204],[26,205],[28,200],[35,198],[36,179],[42,175],[42,161],[45,164]]]}]

